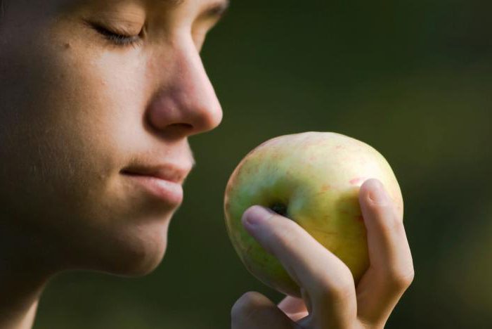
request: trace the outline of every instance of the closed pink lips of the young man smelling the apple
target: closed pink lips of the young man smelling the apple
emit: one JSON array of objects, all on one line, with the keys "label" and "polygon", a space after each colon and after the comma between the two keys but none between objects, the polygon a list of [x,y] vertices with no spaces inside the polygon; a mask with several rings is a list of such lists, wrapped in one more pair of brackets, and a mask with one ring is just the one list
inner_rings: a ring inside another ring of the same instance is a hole
[{"label": "closed pink lips of the young man smelling the apple", "polygon": [[189,172],[190,169],[167,164],[127,167],[120,173],[147,195],[177,207],[183,202],[182,183]]}]

